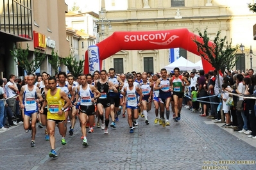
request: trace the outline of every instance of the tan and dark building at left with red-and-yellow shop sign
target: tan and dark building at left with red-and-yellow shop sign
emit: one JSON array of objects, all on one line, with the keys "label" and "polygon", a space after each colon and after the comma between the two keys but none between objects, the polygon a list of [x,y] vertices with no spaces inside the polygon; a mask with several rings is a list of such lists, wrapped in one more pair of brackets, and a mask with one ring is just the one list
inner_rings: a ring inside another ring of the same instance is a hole
[{"label": "tan and dark building at left with red-and-yellow shop sign", "polygon": [[[38,73],[53,74],[55,72],[48,63],[51,52],[53,50],[58,52],[60,58],[69,56],[70,52],[69,41],[66,37],[65,13],[67,13],[67,4],[64,0],[0,1],[0,59],[3,61],[3,63],[0,62],[0,71],[3,72],[3,77],[8,77],[11,73],[19,76],[26,74],[14,62],[10,49],[13,50],[16,47],[26,49],[27,45],[30,50],[28,56],[30,61],[35,58],[35,50],[47,54]],[[12,20],[17,20],[17,22]],[[9,28],[8,25],[13,25],[14,29]],[[65,71],[65,66],[61,66],[61,69]]]}]

